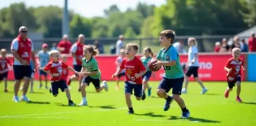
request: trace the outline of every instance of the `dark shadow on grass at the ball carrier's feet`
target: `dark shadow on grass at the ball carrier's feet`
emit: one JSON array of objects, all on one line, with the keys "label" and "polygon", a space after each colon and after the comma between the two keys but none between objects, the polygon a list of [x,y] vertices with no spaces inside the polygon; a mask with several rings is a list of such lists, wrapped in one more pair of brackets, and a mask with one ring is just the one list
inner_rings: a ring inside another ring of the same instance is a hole
[{"label": "dark shadow on grass at the ball carrier's feet", "polygon": [[196,117],[188,117],[188,118],[181,118],[176,116],[171,116],[169,120],[190,120],[192,122],[198,122],[198,123],[220,123],[218,120],[207,120],[207,119],[201,119]]}]

